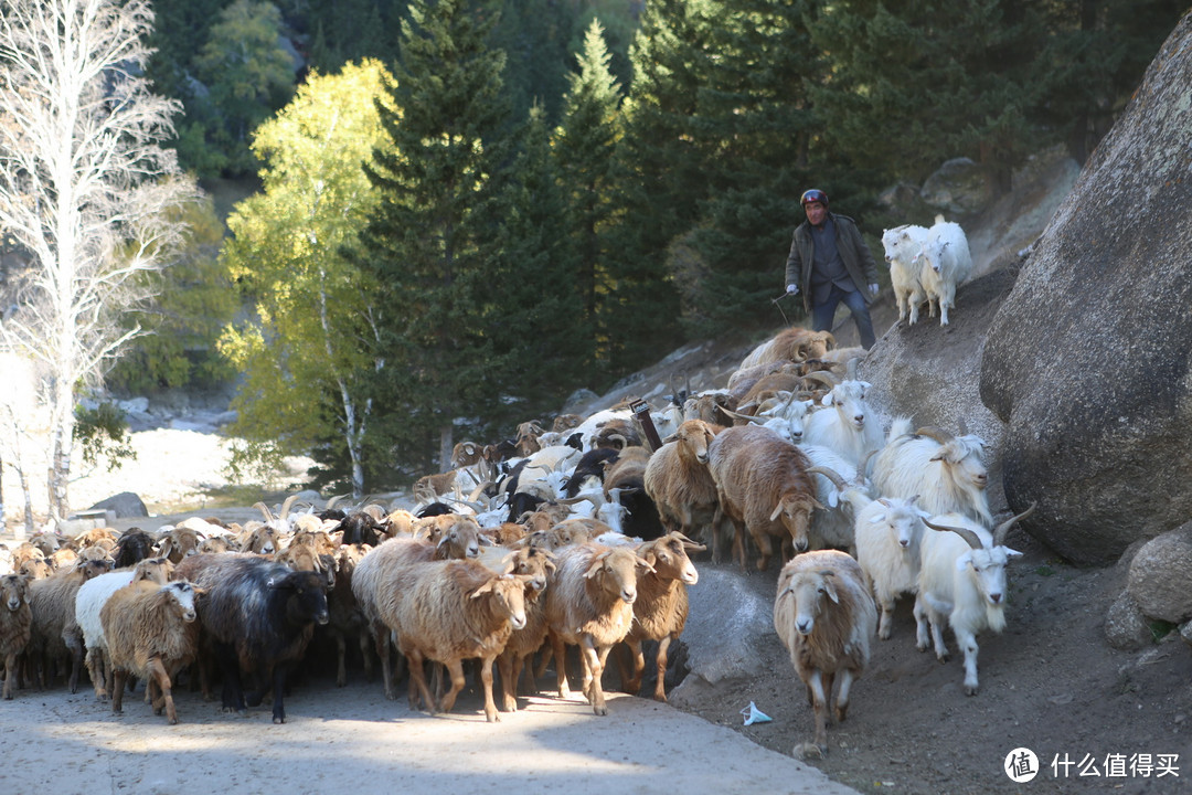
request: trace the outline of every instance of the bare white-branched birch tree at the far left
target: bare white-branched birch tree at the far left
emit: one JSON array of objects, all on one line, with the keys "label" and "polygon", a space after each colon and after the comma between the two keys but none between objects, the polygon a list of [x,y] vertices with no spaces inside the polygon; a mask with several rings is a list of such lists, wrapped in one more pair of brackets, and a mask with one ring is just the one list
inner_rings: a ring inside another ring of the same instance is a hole
[{"label": "bare white-branched birch tree at the far left", "polygon": [[144,0],[6,0],[0,11],[0,229],[29,260],[4,343],[39,362],[49,509],[69,513],[75,396],[137,334],[116,313],[163,267],[193,197],[174,153],[178,103],[143,77]]}]

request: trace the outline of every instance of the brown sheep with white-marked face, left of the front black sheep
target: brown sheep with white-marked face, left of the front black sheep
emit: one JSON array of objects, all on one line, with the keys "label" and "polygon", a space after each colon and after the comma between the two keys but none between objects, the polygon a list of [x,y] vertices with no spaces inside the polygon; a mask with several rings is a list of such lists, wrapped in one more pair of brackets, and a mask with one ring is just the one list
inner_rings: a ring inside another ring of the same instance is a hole
[{"label": "brown sheep with white-marked face, left of the front black sheep", "polygon": [[123,710],[124,683],[131,673],[145,679],[155,715],[162,708],[170,725],[178,722],[170,678],[194,659],[199,622],[190,583],[159,585],[139,582],[119,589],[99,611],[112,660],[112,712]]}]

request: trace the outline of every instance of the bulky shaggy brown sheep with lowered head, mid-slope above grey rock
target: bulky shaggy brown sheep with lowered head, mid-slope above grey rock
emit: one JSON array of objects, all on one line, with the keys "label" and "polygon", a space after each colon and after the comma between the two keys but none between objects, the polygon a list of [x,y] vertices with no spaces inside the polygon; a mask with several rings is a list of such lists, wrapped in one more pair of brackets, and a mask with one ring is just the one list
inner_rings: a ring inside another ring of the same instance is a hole
[{"label": "bulky shaggy brown sheep with lowered head, mid-slope above grey rock", "polygon": [[745,569],[744,534],[757,545],[758,571],[765,571],[774,553],[771,536],[789,540],[796,552],[807,549],[815,482],[807,474],[811,461],[801,449],[760,426],[727,428],[708,446],[708,468],[716,483],[720,508],[737,529],[735,549]]}]

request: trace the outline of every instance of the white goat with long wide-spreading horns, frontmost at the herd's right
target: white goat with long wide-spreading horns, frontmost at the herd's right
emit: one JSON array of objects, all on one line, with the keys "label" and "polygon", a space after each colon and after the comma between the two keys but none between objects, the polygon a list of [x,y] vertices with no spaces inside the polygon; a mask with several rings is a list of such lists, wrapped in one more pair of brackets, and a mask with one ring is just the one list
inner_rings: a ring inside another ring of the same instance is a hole
[{"label": "white goat with long wide-spreading horns, frontmost at the herd's right", "polygon": [[[1035,511],[1031,504],[989,533],[982,524],[961,516],[945,514],[924,523],[937,533],[923,538],[920,548],[919,596],[915,614],[926,613],[931,622],[931,640],[936,658],[948,660],[943,625],[946,620],[964,651],[964,694],[975,696],[976,633],[982,629],[1001,632],[1006,626],[1006,563],[1020,555],[1005,545],[1006,533],[1014,522]],[[926,651],[925,639],[919,648]]]}]

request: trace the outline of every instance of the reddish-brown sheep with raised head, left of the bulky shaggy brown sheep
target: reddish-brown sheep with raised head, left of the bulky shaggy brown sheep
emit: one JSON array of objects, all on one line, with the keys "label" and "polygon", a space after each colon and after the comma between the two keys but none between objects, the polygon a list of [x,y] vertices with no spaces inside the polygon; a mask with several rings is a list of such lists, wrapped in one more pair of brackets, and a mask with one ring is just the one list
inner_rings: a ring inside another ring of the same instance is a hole
[{"label": "reddish-brown sheep with raised head, left of the bulky shaggy brown sheep", "polygon": [[712,559],[720,563],[718,524],[721,522],[716,484],[708,470],[708,446],[722,430],[702,420],[688,420],[658,448],[646,465],[646,493],[658,508],[668,533],[712,535]]}]

